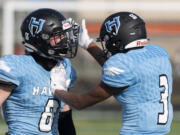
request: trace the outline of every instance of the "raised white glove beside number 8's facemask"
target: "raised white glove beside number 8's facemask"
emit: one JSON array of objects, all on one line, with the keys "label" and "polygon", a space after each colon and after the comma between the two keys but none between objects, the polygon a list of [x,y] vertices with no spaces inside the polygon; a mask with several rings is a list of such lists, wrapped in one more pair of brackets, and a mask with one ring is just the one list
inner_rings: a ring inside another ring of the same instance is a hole
[{"label": "raised white glove beside number 8's facemask", "polygon": [[93,42],[93,39],[89,37],[88,31],[86,29],[85,19],[83,19],[79,33],[79,46],[81,48],[87,49],[91,42]]}]

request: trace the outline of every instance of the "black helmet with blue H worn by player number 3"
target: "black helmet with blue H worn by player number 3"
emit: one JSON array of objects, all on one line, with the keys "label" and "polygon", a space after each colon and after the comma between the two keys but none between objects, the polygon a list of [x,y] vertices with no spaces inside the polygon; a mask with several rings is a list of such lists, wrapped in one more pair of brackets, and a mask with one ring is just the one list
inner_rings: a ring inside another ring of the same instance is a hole
[{"label": "black helmet with blue H worn by player number 3", "polygon": [[[118,12],[103,22],[97,42],[101,42],[105,55],[125,53],[131,48],[147,43],[145,22],[131,12]],[[133,41],[143,41],[140,45],[128,45]]]}]

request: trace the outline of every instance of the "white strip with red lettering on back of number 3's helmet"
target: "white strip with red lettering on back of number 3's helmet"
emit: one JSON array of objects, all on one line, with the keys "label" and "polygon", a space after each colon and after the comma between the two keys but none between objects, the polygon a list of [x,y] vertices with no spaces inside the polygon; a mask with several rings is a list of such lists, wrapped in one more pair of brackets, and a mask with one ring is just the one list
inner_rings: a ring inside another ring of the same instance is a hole
[{"label": "white strip with red lettering on back of number 3's helmet", "polygon": [[125,49],[137,48],[147,45],[148,39],[138,39],[125,46]]}]

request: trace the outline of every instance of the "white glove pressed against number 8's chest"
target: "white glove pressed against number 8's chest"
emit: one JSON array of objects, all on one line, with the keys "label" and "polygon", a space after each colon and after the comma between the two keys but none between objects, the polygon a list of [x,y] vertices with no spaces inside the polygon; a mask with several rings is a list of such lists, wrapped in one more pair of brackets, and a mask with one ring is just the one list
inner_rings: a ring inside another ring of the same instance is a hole
[{"label": "white glove pressed against number 8's chest", "polygon": [[62,64],[56,65],[51,70],[51,91],[54,94],[55,90],[67,91],[66,85],[66,71]]}]

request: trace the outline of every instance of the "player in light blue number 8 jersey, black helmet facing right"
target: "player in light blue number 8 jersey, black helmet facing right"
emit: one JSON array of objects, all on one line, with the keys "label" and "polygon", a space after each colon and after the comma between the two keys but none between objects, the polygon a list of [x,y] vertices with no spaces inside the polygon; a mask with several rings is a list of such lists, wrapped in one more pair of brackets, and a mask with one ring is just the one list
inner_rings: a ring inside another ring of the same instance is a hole
[{"label": "player in light blue number 8 jersey, black helmet facing right", "polygon": [[[0,106],[8,135],[75,135],[70,107],[54,97],[59,71],[73,87],[79,26],[54,9],[31,12],[22,22],[25,55],[0,58]],[[61,113],[62,112],[62,113]],[[59,124],[58,124],[59,123]],[[58,128],[59,127],[59,128]]]}]

